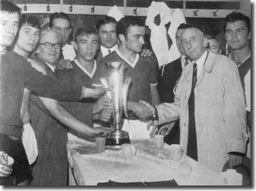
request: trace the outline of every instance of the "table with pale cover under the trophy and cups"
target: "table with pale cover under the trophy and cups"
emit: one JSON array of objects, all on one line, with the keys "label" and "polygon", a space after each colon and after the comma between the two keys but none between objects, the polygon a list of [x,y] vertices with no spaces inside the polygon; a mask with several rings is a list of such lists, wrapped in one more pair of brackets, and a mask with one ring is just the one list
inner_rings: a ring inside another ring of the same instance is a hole
[{"label": "table with pale cover under the trophy and cups", "polygon": [[[183,176],[178,170],[181,161],[170,159],[169,145],[155,149],[152,140],[131,140],[136,148],[132,159],[123,159],[119,151],[95,152],[95,142],[68,141],[70,185],[97,185],[99,182],[153,182],[174,179],[178,185],[224,185],[221,174],[183,155],[192,170]],[[121,152],[121,151],[120,151]],[[73,169],[73,174],[72,174]],[[75,176],[75,177],[74,177]]]}]

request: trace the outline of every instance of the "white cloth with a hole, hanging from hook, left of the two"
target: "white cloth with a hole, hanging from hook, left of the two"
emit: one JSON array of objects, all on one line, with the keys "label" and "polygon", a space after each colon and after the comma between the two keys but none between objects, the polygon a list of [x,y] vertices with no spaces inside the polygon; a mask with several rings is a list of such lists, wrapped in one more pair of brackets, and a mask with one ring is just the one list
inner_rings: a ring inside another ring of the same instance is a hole
[{"label": "white cloth with a hole, hanging from hook, left of the two", "polygon": [[[159,22],[160,16],[160,22]],[[158,21],[156,20],[158,19]],[[165,2],[152,1],[148,7],[146,25],[151,29],[150,42],[157,57],[159,68],[168,63],[169,47],[165,24],[171,19],[170,8]]]}]

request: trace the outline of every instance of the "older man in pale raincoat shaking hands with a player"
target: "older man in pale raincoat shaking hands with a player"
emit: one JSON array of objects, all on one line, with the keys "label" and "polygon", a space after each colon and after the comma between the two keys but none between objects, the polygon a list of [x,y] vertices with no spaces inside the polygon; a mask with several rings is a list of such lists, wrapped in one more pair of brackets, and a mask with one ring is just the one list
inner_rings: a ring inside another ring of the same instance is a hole
[{"label": "older man in pale raincoat shaking hands with a player", "polygon": [[156,124],[180,118],[180,145],[184,154],[221,172],[226,161],[233,168],[245,152],[245,101],[235,63],[206,50],[207,39],[197,28],[181,34],[192,60],[184,67],[174,102],[152,106]]}]

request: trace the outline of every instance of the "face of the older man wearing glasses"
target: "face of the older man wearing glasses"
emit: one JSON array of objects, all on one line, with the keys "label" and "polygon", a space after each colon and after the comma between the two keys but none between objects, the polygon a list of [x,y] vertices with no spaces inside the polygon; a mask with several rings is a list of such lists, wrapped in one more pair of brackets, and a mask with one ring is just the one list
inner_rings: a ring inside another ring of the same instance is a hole
[{"label": "face of the older man wearing glasses", "polygon": [[56,33],[46,33],[41,37],[39,43],[58,43],[60,44],[58,48],[52,45],[51,48],[45,47],[44,44],[40,44],[38,47],[39,57],[43,59],[45,62],[54,65],[55,62],[58,60],[61,52],[61,39],[59,38],[58,34]]}]

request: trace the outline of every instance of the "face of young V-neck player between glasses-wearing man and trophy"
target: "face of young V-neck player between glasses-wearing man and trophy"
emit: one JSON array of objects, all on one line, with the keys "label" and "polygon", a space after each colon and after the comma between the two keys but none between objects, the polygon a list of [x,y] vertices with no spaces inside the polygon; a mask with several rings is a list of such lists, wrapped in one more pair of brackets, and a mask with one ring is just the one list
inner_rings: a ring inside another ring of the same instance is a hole
[{"label": "face of young V-neck player between glasses-wearing man and trophy", "polygon": [[78,56],[86,61],[92,61],[99,48],[98,34],[78,35],[76,39]]}]

